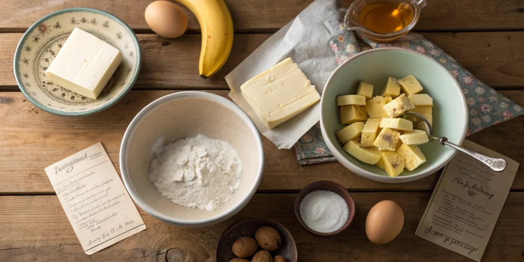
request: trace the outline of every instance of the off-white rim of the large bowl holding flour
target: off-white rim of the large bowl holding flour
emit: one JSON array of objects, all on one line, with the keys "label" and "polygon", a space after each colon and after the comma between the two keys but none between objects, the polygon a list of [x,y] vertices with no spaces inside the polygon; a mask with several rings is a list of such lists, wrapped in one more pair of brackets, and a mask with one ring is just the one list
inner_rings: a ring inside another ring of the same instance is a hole
[{"label": "off-white rim of the large bowl holding flour", "polygon": [[[182,220],[182,219],[175,219],[173,217],[169,217],[165,214],[162,214],[161,212],[157,211],[154,208],[151,208],[150,205],[148,205],[141,196],[137,193],[135,190],[132,181],[130,180],[128,176],[128,168],[127,168],[127,149],[129,147],[129,140],[133,136],[138,124],[140,121],[147,116],[152,110],[157,108],[158,106],[177,99],[182,99],[186,97],[193,97],[193,98],[201,98],[204,100],[211,100],[213,102],[219,103],[230,110],[232,110],[236,115],[238,115],[251,129],[253,134],[256,138],[256,143],[258,145],[258,176],[256,177],[255,183],[253,184],[253,187],[249,190],[248,194],[244,195],[241,201],[239,201],[236,205],[232,206],[231,209],[215,215],[211,216],[207,219],[201,219],[201,220]],[[264,146],[262,144],[262,139],[260,137],[260,134],[258,133],[258,129],[256,128],[255,124],[249,118],[249,116],[235,103],[232,101],[226,99],[225,97],[222,97],[217,94],[208,93],[208,92],[202,92],[202,91],[182,91],[182,92],[176,92],[172,94],[168,94],[165,96],[160,97],[159,99],[149,103],[146,107],[144,107],[138,114],[133,118],[131,123],[129,123],[129,126],[126,129],[126,132],[124,133],[124,137],[122,138],[122,143],[120,146],[120,152],[119,152],[119,162],[120,162],[120,172],[122,174],[122,180],[124,181],[124,185],[129,192],[129,195],[133,200],[140,206],[141,209],[149,213],[150,215],[156,217],[157,219],[171,223],[174,225],[179,226],[199,226],[199,225],[210,225],[210,223],[213,222],[221,222],[222,220],[228,219],[231,216],[238,213],[240,210],[244,208],[244,206],[249,202],[249,200],[253,197],[256,190],[258,189],[258,185],[260,184],[260,180],[263,177],[264,174]]]}]

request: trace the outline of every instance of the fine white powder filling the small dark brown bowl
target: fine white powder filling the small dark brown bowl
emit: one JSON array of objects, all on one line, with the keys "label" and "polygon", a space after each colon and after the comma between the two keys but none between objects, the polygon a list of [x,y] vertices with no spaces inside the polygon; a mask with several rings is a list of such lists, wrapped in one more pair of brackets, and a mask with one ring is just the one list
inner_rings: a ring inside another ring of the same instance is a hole
[{"label": "fine white powder filling the small dark brown bowl", "polygon": [[300,202],[302,221],[316,232],[331,233],[339,230],[346,223],[348,214],[346,201],[331,191],[313,191]]}]

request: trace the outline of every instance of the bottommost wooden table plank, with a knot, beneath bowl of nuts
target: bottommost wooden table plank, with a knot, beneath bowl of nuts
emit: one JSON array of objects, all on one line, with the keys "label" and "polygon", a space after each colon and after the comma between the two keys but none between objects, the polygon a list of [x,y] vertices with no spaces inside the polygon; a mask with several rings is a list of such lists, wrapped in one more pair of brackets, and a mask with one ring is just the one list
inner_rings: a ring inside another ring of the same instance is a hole
[{"label": "bottommost wooden table plank, with a knot, beneath bowl of nuts", "polygon": [[[430,193],[352,193],[356,216],[341,236],[322,239],[305,232],[293,212],[296,194],[256,194],[232,219],[204,228],[181,228],[140,210],[148,227],[91,256],[85,255],[56,196],[0,196],[0,260],[6,261],[214,261],[217,239],[236,220],[262,215],[276,219],[293,235],[299,261],[471,261],[414,235]],[[375,245],[365,235],[365,219],[377,202],[390,199],[404,211],[400,235]],[[521,261],[524,193],[511,192],[488,243],[483,261]],[[24,208],[20,208],[23,206]],[[222,262],[222,261],[221,261]]]}]

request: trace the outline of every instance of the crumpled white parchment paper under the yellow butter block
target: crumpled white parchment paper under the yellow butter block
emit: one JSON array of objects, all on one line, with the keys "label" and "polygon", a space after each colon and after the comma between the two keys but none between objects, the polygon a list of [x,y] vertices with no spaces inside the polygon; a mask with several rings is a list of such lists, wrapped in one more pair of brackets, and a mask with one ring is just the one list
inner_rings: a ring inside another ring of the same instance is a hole
[{"label": "crumpled white parchment paper under the yellow butter block", "polygon": [[296,18],[266,40],[225,79],[229,96],[253,120],[261,134],[279,149],[291,148],[320,119],[320,102],[273,129],[267,129],[244,100],[240,86],[247,80],[291,58],[309,78],[319,93],[337,67],[335,54],[329,48],[330,37],[341,25],[344,9],[336,0],[316,0]]}]

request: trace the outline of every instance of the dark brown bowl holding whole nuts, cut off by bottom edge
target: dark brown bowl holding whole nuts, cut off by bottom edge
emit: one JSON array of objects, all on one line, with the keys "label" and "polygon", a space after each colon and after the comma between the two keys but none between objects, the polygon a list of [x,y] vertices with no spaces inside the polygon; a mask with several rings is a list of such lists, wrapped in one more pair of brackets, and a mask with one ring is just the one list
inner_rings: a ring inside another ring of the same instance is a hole
[{"label": "dark brown bowl holding whole nuts, cut off by bottom edge", "polygon": [[[297,262],[297,246],[295,245],[293,236],[282,224],[276,220],[269,219],[268,217],[254,216],[245,220],[237,221],[228,226],[219,238],[219,242],[216,244],[215,250],[215,261],[216,262],[228,262],[233,258],[236,258],[233,254],[233,243],[236,239],[243,236],[249,236],[255,238],[255,232],[261,226],[274,227],[280,237],[282,238],[282,244],[276,252],[271,252],[272,256],[280,255],[286,258],[288,262]],[[258,247],[258,250],[262,248]],[[251,257],[246,258],[248,260]]]}]

